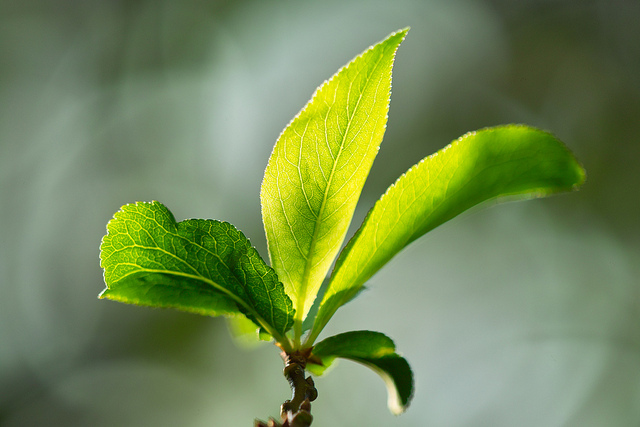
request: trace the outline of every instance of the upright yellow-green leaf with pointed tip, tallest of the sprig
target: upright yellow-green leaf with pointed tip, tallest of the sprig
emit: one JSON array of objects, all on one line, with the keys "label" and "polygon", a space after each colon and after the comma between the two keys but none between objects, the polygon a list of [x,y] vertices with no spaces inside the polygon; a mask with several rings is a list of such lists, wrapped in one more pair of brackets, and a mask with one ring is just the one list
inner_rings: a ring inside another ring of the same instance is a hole
[{"label": "upright yellow-green leaf with pointed tip, tallest of the sprig", "polygon": [[[301,324],[333,262],[384,135],[391,68],[408,29],[320,86],[284,129],[261,189],[271,263]],[[298,326],[299,328],[299,326]]]}]

